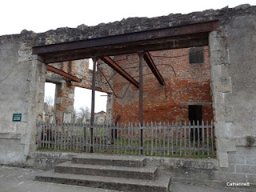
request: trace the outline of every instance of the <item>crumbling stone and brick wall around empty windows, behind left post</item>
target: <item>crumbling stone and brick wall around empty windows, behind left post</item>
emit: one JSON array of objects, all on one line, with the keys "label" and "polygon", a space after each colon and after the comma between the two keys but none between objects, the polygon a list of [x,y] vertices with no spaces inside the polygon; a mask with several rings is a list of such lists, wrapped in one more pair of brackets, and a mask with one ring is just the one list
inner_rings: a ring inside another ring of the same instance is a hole
[{"label": "crumbling stone and brick wall around empty windows, behind left post", "polygon": [[[87,87],[91,85],[92,70],[89,69],[89,59],[81,59],[70,62],[52,63],[50,66],[81,78],[82,82],[71,82],[69,78],[62,77],[59,74],[47,70],[46,82],[56,84],[54,114],[56,123],[74,122],[74,89],[75,86]],[[108,70],[104,70],[106,73]],[[96,72],[96,86],[109,90],[109,86],[102,83],[102,76],[99,71]],[[66,116],[66,114],[70,114]],[[64,119],[64,116],[68,117]]]}]

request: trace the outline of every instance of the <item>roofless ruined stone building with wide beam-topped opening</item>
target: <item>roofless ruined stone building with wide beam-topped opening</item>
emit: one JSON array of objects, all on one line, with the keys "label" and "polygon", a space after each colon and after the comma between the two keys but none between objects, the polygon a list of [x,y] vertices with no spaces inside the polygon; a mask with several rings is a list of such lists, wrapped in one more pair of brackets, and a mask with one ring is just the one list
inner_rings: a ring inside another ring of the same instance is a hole
[{"label": "roofless ruined stone building with wide beam-topped opening", "polygon": [[255,53],[250,5],[3,35],[0,163],[26,163],[36,150],[53,82],[57,123],[72,121],[75,86],[108,94],[107,122],[213,119],[219,170],[206,178],[256,185]]}]

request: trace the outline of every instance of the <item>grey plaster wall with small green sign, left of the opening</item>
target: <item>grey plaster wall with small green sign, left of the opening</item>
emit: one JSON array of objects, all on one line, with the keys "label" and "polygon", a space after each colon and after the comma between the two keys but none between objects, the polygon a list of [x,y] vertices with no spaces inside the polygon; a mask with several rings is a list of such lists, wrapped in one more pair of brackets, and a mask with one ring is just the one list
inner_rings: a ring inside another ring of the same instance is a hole
[{"label": "grey plaster wall with small green sign, left of the opening", "polygon": [[[0,38],[0,164],[26,162],[42,118],[46,66],[32,56],[32,35]],[[13,114],[22,114],[13,122]]]}]

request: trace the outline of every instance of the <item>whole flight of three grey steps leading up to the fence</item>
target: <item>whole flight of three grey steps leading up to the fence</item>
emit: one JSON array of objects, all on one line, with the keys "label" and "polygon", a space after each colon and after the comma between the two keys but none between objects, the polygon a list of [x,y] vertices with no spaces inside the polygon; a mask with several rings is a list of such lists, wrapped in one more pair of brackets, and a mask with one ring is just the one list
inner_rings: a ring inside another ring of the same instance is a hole
[{"label": "whole flight of three grey steps leading up to the fence", "polygon": [[145,157],[105,154],[79,155],[35,180],[119,191],[167,192],[170,186],[170,175],[147,166]]}]

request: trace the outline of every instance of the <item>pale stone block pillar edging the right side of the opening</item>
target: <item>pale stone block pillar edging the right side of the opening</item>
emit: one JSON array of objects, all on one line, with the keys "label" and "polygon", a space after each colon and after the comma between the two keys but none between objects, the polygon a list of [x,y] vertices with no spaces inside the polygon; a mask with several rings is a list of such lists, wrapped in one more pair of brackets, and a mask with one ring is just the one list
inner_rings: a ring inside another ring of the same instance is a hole
[{"label": "pale stone block pillar edging the right side of the opening", "polygon": [[226,95],[232,93],[229,50],[224,30],[210,33],[210,70],[211,90],[213,93],[214,130],[217,144],[217,156],[221,167],[228,167],[228,151],[234,151],[234,141],[230,138],[233,123],[233,107],[226,105]]}]

